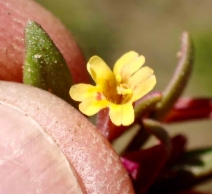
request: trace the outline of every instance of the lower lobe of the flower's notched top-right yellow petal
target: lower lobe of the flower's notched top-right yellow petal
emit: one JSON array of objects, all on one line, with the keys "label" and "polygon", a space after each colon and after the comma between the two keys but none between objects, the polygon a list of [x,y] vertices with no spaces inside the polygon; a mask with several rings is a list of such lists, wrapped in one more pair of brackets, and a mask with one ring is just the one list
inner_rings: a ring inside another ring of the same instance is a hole
[{"label": "lower lobe of the flower's notched top-right yellow petal", "polygon": [[123,70],[121,72],[121,77],[123,79],[123,82],[127,82],[127,80],[136,72],[138,71],[143,64],[145,63],[145,57],[139,56],[132,60],[131,63],[128,63],[123,67]]}]

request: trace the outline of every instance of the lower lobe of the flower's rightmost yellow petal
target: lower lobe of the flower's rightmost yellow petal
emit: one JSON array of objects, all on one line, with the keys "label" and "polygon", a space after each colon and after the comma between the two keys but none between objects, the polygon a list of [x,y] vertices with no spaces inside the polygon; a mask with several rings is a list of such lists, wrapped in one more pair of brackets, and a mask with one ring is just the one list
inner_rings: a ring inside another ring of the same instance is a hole
[{"label": "lower lobe of the flower's rightmost yellow petal", "polygon": [[155,84],[156,84],[155,75],[150,75],[147,79],[143,80],[143,82],[139,82],[138,85],[134,87],[133,95],[130,102],[135,102],[142,96],[146,95],[148,92],[152,90]]}]

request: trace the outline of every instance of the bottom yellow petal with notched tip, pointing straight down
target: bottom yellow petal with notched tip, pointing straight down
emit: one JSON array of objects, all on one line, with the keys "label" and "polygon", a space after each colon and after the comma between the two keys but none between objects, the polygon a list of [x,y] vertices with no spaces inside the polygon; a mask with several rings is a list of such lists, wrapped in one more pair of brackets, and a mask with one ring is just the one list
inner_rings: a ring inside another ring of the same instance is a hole
[{"label": "bottom yellow petal with notched tip, pointing straight down", "polygon": [[110,104],[109,108],[110,119],[116,126],[128,126],[133,123],[135,116],[132,104]]}]

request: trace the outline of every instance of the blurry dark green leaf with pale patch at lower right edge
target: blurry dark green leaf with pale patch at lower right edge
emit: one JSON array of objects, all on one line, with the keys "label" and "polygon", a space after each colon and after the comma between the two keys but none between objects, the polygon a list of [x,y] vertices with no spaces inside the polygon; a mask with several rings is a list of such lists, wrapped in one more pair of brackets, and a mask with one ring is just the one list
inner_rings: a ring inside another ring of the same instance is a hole
[{"label": "blurry dark green leaf with pale patch at lower right edge", "polygon": [[153,190],[164,192],[182,190],[212,177],[212,148],[203,148],[186,152],[179,161],[167,166]]}]

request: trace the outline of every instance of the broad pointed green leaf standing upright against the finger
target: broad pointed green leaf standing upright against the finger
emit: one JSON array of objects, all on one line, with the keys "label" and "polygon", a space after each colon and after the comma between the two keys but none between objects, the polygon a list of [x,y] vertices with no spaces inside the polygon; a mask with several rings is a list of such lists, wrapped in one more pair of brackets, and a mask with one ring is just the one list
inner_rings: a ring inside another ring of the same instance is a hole
[{"label": "broad pointed green leaf standing upright against the finger", "polygon": [[74,104],[69,96],[72,85],[69,68],[49,35],[34,21],[27,22],[25,44],[23,82]]}]

